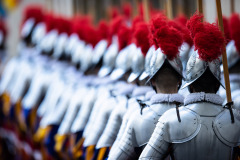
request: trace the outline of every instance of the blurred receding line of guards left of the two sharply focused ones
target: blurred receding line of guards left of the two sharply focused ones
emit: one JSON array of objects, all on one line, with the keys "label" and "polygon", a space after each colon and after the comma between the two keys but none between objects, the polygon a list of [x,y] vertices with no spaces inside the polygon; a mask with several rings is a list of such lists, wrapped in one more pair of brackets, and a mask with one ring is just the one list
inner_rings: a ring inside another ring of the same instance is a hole
[{"label": "blurred receding line of guards left of the two sharply focused ones", "polygon": [[[82,141],[81,132],[87,124],[91,127],[89,123],[95,118],[89,118],[92,110],[99,109],[93,106],[104,106],[106,100],[127,102],[132,96],[137,85],[119,79],[127,80],[131,67],[134,73],[129,81],[138,78],[144,70],[144,55],[135,44],[126,47],[133,41],[129,36],[133,30],[124,16],[115,18],[109,26],[101,21],[98,28],[92,26],[88,17],[74,17],[70,21],[43,13],[37,6],[27,8],[24,17],[19,55],[7,64],[1,81],[1,93],[5,97],[3,110],[9,122],[4,131],[21,137],[13,138],[13,141],[18,139],[13,143],[23,154],[35,158],[40,154],[43,158],[68,156],[62,153],[69,148],[66,144],[70,142],[69,133]],[[138,21],[142,22],[142,17],[136,18]],[[143,26],[147,28],[146,24]],[[148,48],[143,49],[144,54]],[[137,56],[133,56],[136,50]],[[102,60],[103,54],[107,56]],[[134,65],[132,57],[135,57]],[[115,60],[116,69],[111,78],[105,77],[115,68]],[[147,91],[152,89],[140,87],[134,96],[144,98]],[[114,106],[106,107],[107,114]],[[83,156],[79,143],[72,146],[73,157]]]}]

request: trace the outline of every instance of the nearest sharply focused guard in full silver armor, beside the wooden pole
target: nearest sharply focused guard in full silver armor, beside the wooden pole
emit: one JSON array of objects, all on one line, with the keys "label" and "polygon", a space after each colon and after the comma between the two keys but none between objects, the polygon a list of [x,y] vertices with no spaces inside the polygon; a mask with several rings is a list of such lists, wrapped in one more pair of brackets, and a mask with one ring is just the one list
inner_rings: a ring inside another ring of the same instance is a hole
[{"label": "nearest sharply focused guard in full silver armor, beside the wooden pole", "polygon": [[240,143],[239,112],[222,107],[216,94],[220,83],[220,60],[224,37],[216,26],[201,22],[193,15],[187,23],[195,52],[186,67],[186,84],[190,94],[184,106],[171,109],[159,119],[140,159],[227,160],[234,158]]}]

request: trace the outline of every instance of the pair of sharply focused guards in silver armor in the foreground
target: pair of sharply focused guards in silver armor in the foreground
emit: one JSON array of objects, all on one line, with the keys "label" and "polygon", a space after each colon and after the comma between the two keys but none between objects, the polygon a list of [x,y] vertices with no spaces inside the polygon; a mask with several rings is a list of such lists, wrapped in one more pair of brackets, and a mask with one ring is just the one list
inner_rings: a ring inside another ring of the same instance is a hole
[{"label": "pair of sharply focused guards in silver armor in the foreground", "polygon": [[[239,21],[237,17],[234,21]],[[187,22],[194,51],[185,70],[182,88],[188,87],[190,92],[185,98],[178,94],[183,71],[178,63],[181,41],[177,27],[172,28],[164,16],[151,20],[153,41],[160,49],[150,63],[150,81],[157,94],[149,107],[131,115],[109,159],[237,158],[238,106],[224,108],[224,99],[216,94],[222,85],[219,56],[225,41],[216,24],[201,19],[195,14]]]}]

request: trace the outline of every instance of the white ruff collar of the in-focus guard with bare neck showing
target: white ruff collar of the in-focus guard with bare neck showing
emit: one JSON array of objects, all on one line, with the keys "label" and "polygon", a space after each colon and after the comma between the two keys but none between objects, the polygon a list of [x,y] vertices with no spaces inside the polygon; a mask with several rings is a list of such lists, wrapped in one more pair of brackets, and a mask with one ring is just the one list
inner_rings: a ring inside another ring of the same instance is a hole
[{"label": "white ruff collar of the in-focus guard with bare neck showing", "polygon": [[151,104],[158,104],[158,103],[183,103],[184,97],[178,93],[176,94],[155,94],[151,98]]}]

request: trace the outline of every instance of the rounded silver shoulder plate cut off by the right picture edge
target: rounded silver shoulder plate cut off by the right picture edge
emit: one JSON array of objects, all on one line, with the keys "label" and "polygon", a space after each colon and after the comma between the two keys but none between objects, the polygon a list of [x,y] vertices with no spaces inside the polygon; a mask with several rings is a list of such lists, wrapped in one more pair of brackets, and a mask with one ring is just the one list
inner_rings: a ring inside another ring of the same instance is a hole
[{"label": "rounded silver shoulder plate cut off by the right picture edge", "polygon": [[240,110],[232,109],[234,123],[228,109],[223,110],[213,121],[216,136],[226,145],[236,147],[240,145]]}]

